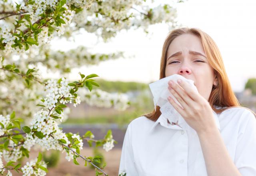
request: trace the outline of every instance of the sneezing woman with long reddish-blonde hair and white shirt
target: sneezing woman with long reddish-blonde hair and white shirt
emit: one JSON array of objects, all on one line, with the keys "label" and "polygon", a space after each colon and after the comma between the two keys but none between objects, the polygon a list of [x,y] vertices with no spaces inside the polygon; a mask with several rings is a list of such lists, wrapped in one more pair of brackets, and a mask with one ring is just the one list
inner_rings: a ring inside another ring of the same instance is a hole
[{"label": "sneezing woman with long reddish-blonde hair and white shirt", "polygon": [[168,82],[184,109],[172,99],[170,104],[196,135],[169,123],[157,106],[128,124],[119,174],[256,176],[256,114],[236,99],[214,40],[196,28],[170,32],[160,79],[173,74],[194,80],[198,89],[196,94],[186,82]]}]

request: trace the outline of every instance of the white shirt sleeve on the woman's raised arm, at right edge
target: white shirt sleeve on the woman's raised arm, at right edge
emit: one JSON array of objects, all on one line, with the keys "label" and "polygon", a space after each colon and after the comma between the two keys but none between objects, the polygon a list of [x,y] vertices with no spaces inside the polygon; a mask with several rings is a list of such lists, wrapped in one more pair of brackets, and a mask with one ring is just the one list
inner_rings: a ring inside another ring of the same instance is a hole
[{"label": "white shirt sleeve on the woman's raised arm, at right edge", "polygon": [[249,118],[238,136],[234,164],[242,176],[256,176],[256,118],[249,110],[245,115]]}]

